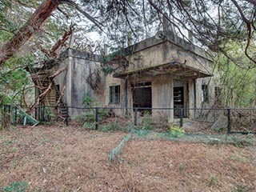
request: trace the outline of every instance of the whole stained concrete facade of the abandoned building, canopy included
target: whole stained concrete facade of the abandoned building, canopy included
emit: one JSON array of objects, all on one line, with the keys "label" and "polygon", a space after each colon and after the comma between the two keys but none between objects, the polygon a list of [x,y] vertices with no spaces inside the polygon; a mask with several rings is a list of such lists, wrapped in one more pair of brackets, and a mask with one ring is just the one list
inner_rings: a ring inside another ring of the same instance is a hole
[{"label": "whole stained concrete facade of the abandoned building, canopy included", "polygon": [[[63,99],[67,106],[82,106],[82,98],[87,93],[95,98],[100,106],[132,108],[134,89],[139,89],[134,85],[144,84],[147,85],[145,87],[150,87],[147,90],[151,90],[152,108],[180,107],[174,104],[174,87],[177,86],[183,87],[182,107],[200,108],[202,84],[207,85],[209,92],[209,99],[204,102],[204,107],[214,105],[212,60],[204,50],[192,46],[171,32],[165,32],[162,39],[148,38],[127,47],[124,51],[129,62],[126,69],[105,76],[99,70],[101,56],[66,50],[63,54],[65,59],[59,66],[67,67],[66,74],[61,74],[54,81],[60,86],[60,90],[66,86]],[[90,81],[96,77],[94,73],[100,76],[97,89],[90,85]],[[110,86],[120,86],[120,99],[117,103],[110,103]],[[78,112],[70,111],[71,114]],[[133,110],[117,110],[116,113],[133,115]],[[153,110],[154,116],[158,114],[166,115],[170,121],[174,118],[174,110]],[[190,110],[186,117],[193,118],[194,115],[194,110]]]}]

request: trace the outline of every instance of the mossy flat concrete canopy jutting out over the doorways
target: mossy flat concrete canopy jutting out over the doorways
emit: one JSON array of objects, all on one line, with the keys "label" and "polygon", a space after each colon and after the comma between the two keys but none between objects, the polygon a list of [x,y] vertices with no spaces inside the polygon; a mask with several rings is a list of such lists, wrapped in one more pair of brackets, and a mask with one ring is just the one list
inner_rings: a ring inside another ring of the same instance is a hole
[{"label": "mossy flat concrete canopy jutting out over the doorways", "polygon": [[156,76],[158,74],[170,74],[179,78],[206,78],[214,76],[208,71],[199,70],[192,66],[187,66],[180,62],[170,62],[158,66],[150,66],[138,70],[128,70],[118,72],[113,75],[114,78],[126,78],[134,74],[141,76]]}]

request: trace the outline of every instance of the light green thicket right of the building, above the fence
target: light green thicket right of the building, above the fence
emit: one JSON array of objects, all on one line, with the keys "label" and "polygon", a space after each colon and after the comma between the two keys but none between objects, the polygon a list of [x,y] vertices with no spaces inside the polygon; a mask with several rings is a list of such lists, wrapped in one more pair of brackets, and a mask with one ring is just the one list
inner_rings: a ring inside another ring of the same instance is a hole
[{"label": "light green thicket right of the building, above the fence", "polygon": [[[254,107],[256,106],[256,68],[241,52],[244,42],[229,42],[226,49],[230,57],[218,55],[215,73],[219,75],[221,84],[221,98],[225,106]],[[254,49],[255,53],[256,49]]]}]

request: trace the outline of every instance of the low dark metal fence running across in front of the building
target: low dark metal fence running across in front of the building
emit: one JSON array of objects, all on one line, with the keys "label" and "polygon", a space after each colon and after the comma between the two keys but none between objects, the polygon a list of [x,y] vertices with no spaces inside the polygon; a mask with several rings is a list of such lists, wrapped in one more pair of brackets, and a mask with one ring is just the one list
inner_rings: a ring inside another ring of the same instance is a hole
[{"label": "low dark metal fence running across in front of the building", "polygon": [[[14,125],[25,124],[21,108],[0,106],[1,124],[8,119]],[[42,123],[64,122],[95,130],[166,131],[176,125],[188,134],[256,133],[256,109],[38,106],[30,115]]]}]

